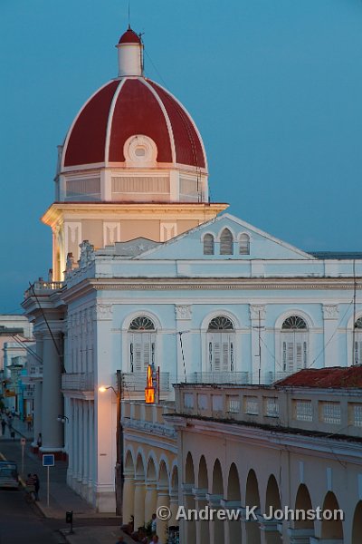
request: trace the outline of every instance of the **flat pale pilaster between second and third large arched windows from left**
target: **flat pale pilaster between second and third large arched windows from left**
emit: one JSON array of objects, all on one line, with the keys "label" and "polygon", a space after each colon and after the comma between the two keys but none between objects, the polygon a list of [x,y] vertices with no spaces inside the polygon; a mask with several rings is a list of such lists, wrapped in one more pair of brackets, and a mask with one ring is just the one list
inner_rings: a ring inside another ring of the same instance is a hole
[{"label": "flat pale pilaster between second and third large arched windows from left", "polygon": [[[252,323],[252,376],[250,376],[250,383],[265,384],[266,361],[264,360],[265,350],[262,339],[266,310],[264,305],[259,304],[249,305],[249,310]],[[261,335],[261,341],[259,341],[259,335]]]}]

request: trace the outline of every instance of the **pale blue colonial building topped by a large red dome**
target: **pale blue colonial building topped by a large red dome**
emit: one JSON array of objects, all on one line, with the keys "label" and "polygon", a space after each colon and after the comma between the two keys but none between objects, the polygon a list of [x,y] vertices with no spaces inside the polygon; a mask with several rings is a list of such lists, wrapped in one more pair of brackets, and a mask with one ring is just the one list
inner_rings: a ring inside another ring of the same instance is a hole
[{"label": "pale blue colonial building topped by a large red dome", "polygon": [[271,384],[356,364],[362,345],[362,253],[306,253],[219,215],[195,123],[144,77],[137,34],[118,48],[119,77],[60,148],[43,216],[53,277],[23,303],[44,361],[34,436],[43,452],[67,452],[69,484],[101,511],[115,508],[117,398],[98,387],[116,387],[117,370],[137,399],[148,364],[159,367],[167,401],[186,380]]}]

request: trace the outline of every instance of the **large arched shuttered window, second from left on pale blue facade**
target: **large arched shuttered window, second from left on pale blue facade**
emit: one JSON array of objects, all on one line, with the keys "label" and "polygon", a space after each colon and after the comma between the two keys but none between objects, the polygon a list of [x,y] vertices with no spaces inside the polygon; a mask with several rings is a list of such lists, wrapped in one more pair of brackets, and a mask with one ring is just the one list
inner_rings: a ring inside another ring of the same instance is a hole
[{"label": "large arched shuttered window, second from left on pale blue facade", "polygon": [[210,372],[233,372],[235,331],[228,317],[217,316],[207,329],[207,348]]}]

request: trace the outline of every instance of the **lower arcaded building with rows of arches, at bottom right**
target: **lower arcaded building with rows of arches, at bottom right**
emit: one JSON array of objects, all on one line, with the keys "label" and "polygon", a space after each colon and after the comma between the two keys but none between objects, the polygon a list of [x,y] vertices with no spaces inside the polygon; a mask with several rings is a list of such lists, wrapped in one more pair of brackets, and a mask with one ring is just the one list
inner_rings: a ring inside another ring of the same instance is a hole
[{"label": "lower arcaded building with rows of arches, at bottom right", "polygon": [[[361,391],[358,365],[274,386],[178,384],[175,407],[125,401],[124,519],[137,528],[167,506],[187,544],[360,544]],[[178,505],[240,519],[177,522]],[[297,519],[281,519],[285,507]],[[316,520],[303,520],[308,510]],[[157,525],[162,543],[166,525]]]}]

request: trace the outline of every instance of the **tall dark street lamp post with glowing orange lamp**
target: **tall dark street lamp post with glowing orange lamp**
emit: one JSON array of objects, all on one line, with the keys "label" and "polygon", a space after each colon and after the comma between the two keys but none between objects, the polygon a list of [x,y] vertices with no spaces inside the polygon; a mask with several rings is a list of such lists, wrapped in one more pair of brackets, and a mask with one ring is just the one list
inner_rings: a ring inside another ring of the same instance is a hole
[{"label": "tall dark street lamp post with glowing orange lamp", "polygon": [[123,428],[121,422],[120,406],[122,400],[122,374],[117,371],[117,391],[113,385],[108,387],[101,385],[98,390],[105,393],[111,389],[117,396],[117,426],[116,426],[116,467],[115,467],[115,488],[116,488],[116,514],[121,515],[123,501]]}]

